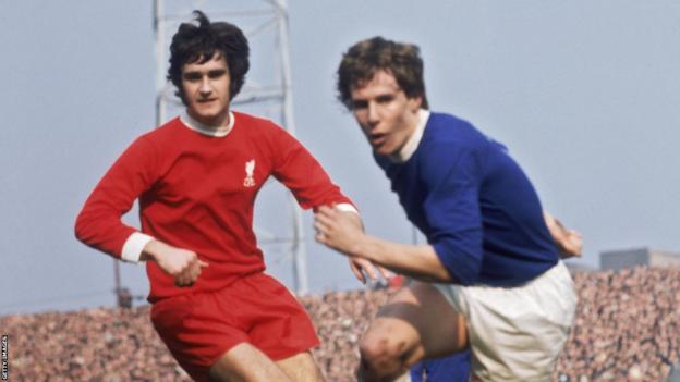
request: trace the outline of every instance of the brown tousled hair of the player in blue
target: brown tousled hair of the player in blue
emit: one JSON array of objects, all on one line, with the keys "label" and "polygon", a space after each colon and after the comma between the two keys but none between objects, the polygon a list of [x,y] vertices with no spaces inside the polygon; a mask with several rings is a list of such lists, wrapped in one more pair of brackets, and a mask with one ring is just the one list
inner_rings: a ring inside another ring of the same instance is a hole
[{"label": "brown tousled hair of the player in blue", "polygon": [[352,110],[352,87],[365,84],[376,72],[385,71],[394,76],[409,98],[421,97],[422,107],[428,109],[420,52],[416,45],[380,36],[356,42],[342,56],[338,67],[338,100]]}]

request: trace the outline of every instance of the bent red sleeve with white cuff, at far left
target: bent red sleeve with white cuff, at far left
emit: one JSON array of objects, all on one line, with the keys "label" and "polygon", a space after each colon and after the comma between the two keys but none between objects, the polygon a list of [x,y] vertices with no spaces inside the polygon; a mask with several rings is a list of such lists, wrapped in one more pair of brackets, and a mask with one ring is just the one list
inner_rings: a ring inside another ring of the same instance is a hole
[{"label": "bent red sleeve with white cuff, at far left", "polygon": [[136,261],[153,237],[121,220],[133,202],[155,182],[155,150],[137,138],[95,186],[75,221],[75,236],[114,258]]}]

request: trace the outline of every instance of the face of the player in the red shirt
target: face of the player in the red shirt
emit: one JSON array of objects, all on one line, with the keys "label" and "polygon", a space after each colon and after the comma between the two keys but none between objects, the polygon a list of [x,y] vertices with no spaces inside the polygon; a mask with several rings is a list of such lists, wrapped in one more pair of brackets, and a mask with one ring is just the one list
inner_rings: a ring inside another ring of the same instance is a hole
[{"label": "face of the player in the red shirt", "polygon": [[227,60],[221,54],[204,63],[184,64],[182,90],[189,114],[209,126],[228,125],[230,84]]}]

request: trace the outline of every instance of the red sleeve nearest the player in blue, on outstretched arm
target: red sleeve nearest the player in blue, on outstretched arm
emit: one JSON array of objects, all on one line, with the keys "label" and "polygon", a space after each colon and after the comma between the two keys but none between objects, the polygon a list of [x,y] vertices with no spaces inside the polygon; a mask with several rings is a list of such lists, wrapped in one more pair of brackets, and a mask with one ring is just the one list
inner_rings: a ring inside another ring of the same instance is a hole
[{"label": "red sleeve nearest the player in blue, on outstretched arm", "polygon": [[349,204],[319,162],[292,135],[276,127],[274,176],[286,185],[304,209]]}]

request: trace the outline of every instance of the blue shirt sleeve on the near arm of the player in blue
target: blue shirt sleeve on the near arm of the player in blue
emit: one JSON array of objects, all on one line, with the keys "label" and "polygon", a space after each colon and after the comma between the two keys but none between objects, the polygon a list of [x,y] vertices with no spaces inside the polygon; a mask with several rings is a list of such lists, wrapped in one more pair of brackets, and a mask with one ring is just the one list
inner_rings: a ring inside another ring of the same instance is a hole
[{"label": "blue shirt sleeve on the near arm of the player in blue", "polygon": [[428,242],[451,276],[470,285],[479,275],[484,256],[479,156],[434,145],[427,158],[422,176]]}]

